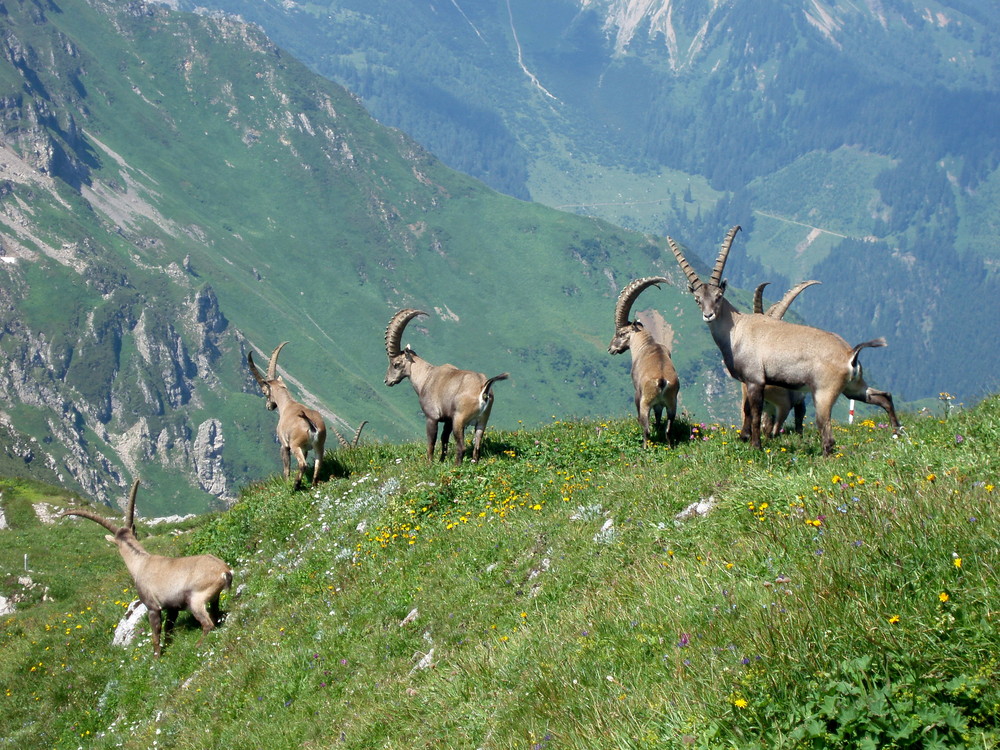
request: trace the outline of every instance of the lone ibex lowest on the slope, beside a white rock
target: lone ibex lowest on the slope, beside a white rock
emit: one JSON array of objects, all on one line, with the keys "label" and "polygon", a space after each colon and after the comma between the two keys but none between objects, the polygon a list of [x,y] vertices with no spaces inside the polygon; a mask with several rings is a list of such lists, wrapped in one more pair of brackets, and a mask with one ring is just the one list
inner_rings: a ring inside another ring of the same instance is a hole
[{"label": "lone ibex lowest on the slope, beside a white rock", "polygon": [[218,622],[219,597],[232,585],[233,571],[215,555],[164,557],[151,555],[143,549],[135,537],[135,496],[138,491],[139,480],[136,479],[128,497],[125,525],[121,527],[86,508],[67,508],[60,515],[89,518],[111,532],[105,539],[118,547],[139,592],[139,601],[149,610],[153,656],[160,655],[161,613],[166,614],[166,640],[177,613],[182,609],[188,610],[201,624],[197,648]]}]

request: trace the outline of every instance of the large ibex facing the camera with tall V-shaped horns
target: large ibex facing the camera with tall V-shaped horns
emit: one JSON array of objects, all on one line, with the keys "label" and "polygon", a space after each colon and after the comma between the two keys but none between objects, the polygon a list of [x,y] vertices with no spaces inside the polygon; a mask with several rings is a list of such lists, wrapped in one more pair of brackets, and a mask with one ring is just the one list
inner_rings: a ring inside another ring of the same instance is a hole
[{"label": "large ibex facing the camera with tall V-shaped horns", "polygon": [[884,338],[852,347],[840,336],[819,328],[767,315],[741,313],[725,298],[726,282],[722,271],[739,229],[735,226],[726,235],[707,283],[698,278],[677,243],[670,237],[667,241],[688,278],[688,288],[701,308],[702,319],[708,323],[730,375],[747,386],[741,439],[749,439],[751,445],[760,448],[760,414],[766,385],[808,388],[812,392],[825,456],[833,452],[830,412],[841,393],[885,409],[893,431],[898,433],[900,424],[892,395],[869,387],[858,362],[862,349],[885,346]]}]

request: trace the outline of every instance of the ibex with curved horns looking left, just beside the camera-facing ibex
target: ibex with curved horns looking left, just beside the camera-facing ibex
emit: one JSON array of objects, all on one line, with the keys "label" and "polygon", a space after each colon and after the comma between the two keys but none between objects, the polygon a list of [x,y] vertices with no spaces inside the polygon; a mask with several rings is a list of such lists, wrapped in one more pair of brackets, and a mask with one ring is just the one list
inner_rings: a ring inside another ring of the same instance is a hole
[{"label": "ibex with curved horns looking left, just beside the camera-facing ibex", "polygon": [[[608,353],[632,352],[632,385],[635,386],[635,409],[642,427],[642,447],[649,444],[649,410],[656,416],[656,430],[663,429],[663,436],[670,445],[670,430],[677,416],[677,392],[680,381],[670,361],[670,350],[657,342],[638,320],[630,320],[632,305],[642,292],[660,283],[669,284],[663,276],[635,279],[622,289],[615,306],[615,335],[608,345]],[[661,423],[663,410],[667,410],[667,424]]]}]

